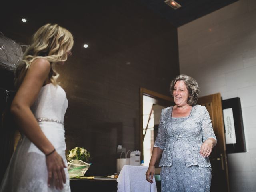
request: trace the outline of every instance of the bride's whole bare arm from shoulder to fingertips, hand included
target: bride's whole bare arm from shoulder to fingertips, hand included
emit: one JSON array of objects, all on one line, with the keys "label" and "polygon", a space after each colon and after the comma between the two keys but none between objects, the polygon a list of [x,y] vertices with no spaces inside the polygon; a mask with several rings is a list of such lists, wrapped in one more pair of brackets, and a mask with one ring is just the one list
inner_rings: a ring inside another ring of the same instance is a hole
[{"label": "bride's whole bare arm from shoulder to fingertips, hand included", "polygon": [[[48,79],[49,72],[50,63],[47,60],[42,58],[34,60],[11,105],[11,112],[19,129],[44,154],[50,154],[54,151],[54,146],[40,129],[30,107],[38,97],[44,81]],[[50,184],[50,180],[53,177],[56,188],[62,188],[62,182],[66,182],[66,177],[63,169],[65,165],[61,156],[57,152],[46,156],[46,165],[48,169],[48,184]]]}]

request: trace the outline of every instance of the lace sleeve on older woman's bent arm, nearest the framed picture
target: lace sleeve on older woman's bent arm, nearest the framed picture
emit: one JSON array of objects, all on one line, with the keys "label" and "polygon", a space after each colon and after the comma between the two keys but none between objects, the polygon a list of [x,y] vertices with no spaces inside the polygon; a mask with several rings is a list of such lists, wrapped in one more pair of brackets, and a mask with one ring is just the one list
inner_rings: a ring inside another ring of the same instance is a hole
[{"label": "lace sleeve on older woman's bent arm, nearest the framed picture", "polygon": [[203,134],[203,142],[208,138],[214,138],[217,141],[212,128],[212,120],[210,118],[209,112],[205,107],[204,107],[204,115],[202,119],[202,134]]}]

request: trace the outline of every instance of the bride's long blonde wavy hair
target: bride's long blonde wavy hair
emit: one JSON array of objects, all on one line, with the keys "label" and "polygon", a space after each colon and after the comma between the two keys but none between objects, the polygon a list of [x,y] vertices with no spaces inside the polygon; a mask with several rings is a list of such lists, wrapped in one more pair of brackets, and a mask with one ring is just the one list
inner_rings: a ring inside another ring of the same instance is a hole
[{"label": "bride's long blonde wavy hair", "polygon": [[16,68],[14,84],[20,87],[28,68],[37,58],[45,58],[51,64],[49,79],[57,85],[58,72],[55,70],[57,62],[66,61],[68,51],[73,47],[72,34],[57,24],[46,24],[40,27],[34,34],[32,44],[27,48],[21,63]]}]

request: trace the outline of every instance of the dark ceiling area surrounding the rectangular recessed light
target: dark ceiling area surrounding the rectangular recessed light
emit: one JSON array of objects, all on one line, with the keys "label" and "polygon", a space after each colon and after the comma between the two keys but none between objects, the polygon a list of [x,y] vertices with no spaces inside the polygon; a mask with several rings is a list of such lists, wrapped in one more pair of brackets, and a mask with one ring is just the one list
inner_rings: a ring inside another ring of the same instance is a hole
[{"label": "dark ceiling area surrounding the rectangular recessed light", "polygon": [[176,0],[182,7],[174,10],[164,0],[140,0],[142,4],[160,14],[173,26],[179,27],[214,12],[238,0]]}]

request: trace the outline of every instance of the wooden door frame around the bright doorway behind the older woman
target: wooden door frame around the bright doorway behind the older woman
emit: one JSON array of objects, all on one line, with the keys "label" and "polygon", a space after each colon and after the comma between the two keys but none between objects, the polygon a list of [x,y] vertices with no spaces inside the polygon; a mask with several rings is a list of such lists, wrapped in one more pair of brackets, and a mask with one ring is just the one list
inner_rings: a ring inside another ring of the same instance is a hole
[{"label": "wooden door frame around the bright doorway behind the older woman", "polygon": [[148,96],[154,98],[156,100],[167,100],[170,102],[174,102],[173,98],[148,90],[146,88],[140,88],[140,152],[141,152],[141,159],[143,159],[143,96]]}]

